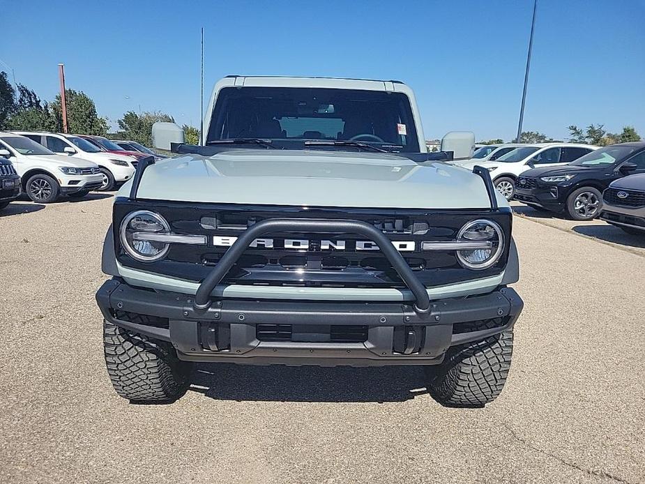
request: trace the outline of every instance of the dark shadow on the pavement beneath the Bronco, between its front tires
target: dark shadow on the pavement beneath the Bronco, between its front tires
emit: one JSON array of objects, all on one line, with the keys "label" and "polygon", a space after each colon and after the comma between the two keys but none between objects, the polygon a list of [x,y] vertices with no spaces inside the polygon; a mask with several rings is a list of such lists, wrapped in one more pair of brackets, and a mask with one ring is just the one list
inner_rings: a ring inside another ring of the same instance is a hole
[{"label": "dark shadow on the pavement beneath the Bronco, between its front tires", "polygon": [[420,366],[351,368],[196,366],[190,390],[214,400],[254,402],[403,402],[427,393]]}]

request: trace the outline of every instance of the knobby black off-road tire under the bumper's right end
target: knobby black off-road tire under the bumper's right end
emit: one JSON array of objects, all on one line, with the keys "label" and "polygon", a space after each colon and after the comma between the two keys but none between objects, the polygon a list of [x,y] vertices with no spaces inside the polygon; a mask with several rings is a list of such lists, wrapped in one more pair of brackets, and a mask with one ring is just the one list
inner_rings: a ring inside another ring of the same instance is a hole
[{"label": "knobby black off-road tire under the bumper's right end", "polygon": [[513,330],[450,348],[441,365],[426,367],[428,391],[446,407],[483,407],[501,393],[512,355]]}]

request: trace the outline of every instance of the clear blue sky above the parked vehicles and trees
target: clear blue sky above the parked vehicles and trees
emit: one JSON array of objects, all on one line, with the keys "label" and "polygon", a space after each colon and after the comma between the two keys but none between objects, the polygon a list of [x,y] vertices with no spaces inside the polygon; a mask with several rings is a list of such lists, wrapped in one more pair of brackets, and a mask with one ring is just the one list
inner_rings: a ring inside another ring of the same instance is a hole
[{"label": "clear blue sky above the parked vehicles and trees", "polygon": [[[398,79],[416,91],[426,138],[517,130],[532,0],[0,1],[0,61],[52,99],[56,64],[115,123],[141,109],[199,126],[228,74]],[[0,70],[7,70],[0,63]],[[128,98],[126,98],[128,96]],[[645,136],[645,0],[538,0],[524,130],[575,123]]]}]

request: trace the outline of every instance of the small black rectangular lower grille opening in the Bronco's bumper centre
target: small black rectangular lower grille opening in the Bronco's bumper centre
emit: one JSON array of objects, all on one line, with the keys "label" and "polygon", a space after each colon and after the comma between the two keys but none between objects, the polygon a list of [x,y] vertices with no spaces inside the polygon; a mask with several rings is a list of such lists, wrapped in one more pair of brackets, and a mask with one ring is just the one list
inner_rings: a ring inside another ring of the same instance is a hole
[{"label": "small black rectangular lower grille opening in the Bronco's bumper centre", "polygon": [[258,324],[255,337],[260,341],[360,343],[367,341],[367,326]]}]

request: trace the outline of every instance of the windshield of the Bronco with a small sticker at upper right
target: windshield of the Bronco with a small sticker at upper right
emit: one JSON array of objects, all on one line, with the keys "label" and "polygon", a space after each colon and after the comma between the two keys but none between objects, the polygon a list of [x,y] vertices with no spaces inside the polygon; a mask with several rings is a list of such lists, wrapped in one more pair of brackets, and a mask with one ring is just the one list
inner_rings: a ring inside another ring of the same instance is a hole
[{"label": "windshield of the Bronco with a small sticker at upper right", "polygon": [[[291,87],[225,88],[213,109],[208,142],[234,138],[359,141],[390,151],[419,151],[410,101],[402,93]],[[297,142],[297,143],[296,143]],[[249,145],[252,146],[252,145]]]}]

